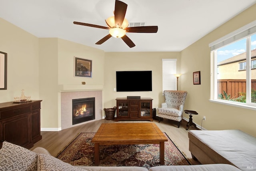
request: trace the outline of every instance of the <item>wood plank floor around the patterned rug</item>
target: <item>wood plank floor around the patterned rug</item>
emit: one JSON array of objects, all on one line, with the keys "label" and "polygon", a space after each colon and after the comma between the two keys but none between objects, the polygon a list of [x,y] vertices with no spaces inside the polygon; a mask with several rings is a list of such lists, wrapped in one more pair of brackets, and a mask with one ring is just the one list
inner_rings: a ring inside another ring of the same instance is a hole
[{"label": "wood plank floor around the patterned rug", "polygon": [[[96,132],[100,127],[101,123],[135,123],[135,122],[150,122],[150,121],[118,121],[101,119],[98,121],[93,121],[83,125],[78,125],[76,127],[63,129],[61,131],[41,131],[42,139],[34,144],[30,150],[33,150],[36,147],[44,147],[47,149],[50,154],[54,157],[57,155],[81,132]],[[186,131],[186,121],[182,120],[180,128],[177,125],[167,119],[164,119],[160,123],[154,120],[154,123],[159,127],[159,129],[165,132],[172,141],[178,146],[180,151],[182,151],[187,159],[192,165],[199,164],[197,161],[192,159],[191,153],[188,150],[188,131],[195,129],[190,127]]]}]

